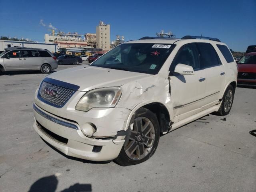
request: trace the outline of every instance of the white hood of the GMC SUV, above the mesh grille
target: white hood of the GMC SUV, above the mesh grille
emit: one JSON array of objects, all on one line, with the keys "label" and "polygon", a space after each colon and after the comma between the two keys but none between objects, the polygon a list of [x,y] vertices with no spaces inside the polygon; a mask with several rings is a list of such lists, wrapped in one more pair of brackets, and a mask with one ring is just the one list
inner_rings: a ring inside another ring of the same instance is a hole
[{"label": "white hood of the GMC SUV, above the mesh grille", "polygon": [[78,66],[48,75],[48,78],[78,85],[78,91],[89,91],[95,88],[122,86],[150,74],[108,69],[94,66]]}]

